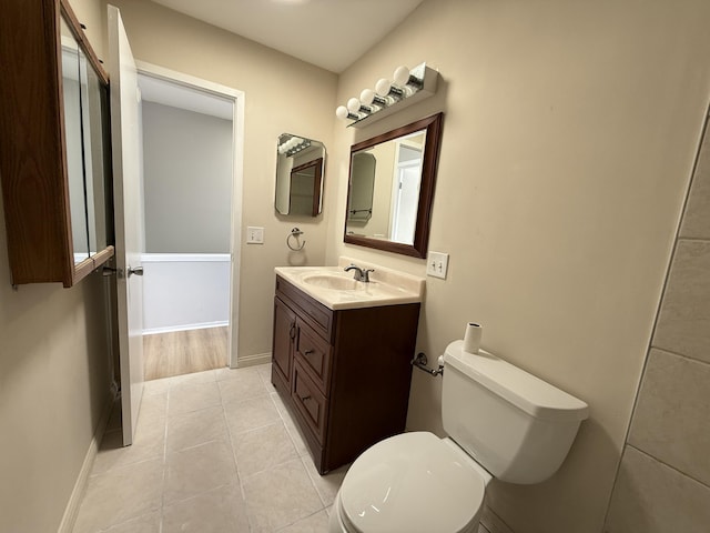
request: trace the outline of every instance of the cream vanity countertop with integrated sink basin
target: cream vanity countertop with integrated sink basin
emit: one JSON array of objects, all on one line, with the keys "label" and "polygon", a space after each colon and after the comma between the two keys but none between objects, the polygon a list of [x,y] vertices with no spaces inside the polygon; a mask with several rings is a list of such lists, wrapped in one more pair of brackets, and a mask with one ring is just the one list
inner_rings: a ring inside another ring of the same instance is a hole
[{"label": "cream vanity countertop with integrated sink basin", "polygon": [[[338,263],[338,266],[277,266],[274,270],[333,310],[416,303],[424,296],[424,278],[348,258],[341,258]],[[351,263],[374,269],[371,281],[356,281],[353,272],[345,272],[344,268]]]}]

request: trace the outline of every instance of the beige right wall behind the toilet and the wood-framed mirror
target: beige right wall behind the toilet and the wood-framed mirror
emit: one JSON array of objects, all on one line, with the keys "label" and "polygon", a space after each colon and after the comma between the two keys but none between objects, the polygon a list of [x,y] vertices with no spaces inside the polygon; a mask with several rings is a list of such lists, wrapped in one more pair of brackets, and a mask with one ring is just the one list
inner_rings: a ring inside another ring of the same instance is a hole
[{"label": "beige right wall behind the toilet and the wood-framed mirror", "polygon": [[[327,262],[424,274],[342,243],[347,153],[443,110],[429,249],[449,274],[427,279],[417,350],[480,322],[484,348],[590,405],[551,480],[493,483],[517,533],[602,529],[710,94],[709,16],[702,0],[426,0],[341,77],[339,103],[398,64],[442,74],[413,108],[336,127]],[[440,431],[439,383],[414,374],[409,429]]]}]

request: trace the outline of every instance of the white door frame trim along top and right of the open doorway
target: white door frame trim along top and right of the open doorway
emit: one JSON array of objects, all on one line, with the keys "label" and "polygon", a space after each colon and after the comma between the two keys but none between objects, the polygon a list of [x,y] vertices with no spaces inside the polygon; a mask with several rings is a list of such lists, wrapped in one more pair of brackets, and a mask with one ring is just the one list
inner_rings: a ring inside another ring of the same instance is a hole
[{"label": "white door frame trim along top and right of the open doorway", "polygon": [[244,92],[231,87],[203,80],[194,76],[135,60],[138,73],[169,81],[179,86],[197,89],[216,97],[232,100],[232,208],[230,255],[230,325],[227,328],[227,364],[237,368],[239,314],[240,314],[240,265],[242,250],[242,190],[244,183]]}]

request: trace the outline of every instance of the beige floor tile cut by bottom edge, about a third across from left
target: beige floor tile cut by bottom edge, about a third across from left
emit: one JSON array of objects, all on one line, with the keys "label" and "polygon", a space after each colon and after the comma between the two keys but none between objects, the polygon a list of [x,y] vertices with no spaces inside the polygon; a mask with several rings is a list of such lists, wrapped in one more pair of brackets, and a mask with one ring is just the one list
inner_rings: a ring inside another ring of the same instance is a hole
[{"label": "beige floor tile cut by bottom edge, about a third across from left", "polygon": [[163,510],[162,533],[248,532],[246,504],[239,485],[214,489]]}]

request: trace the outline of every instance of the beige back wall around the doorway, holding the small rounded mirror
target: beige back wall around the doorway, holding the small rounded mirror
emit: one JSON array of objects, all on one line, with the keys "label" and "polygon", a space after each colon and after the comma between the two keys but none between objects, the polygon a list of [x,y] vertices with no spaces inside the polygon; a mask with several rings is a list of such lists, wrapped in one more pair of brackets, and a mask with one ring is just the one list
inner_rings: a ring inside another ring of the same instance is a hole
[{"label": "beige back wall around the doorway, holding the small rounded mirror", "polygon": [[[152,2],[112,1],[121,10],[133,56],[245,93],[242,229],[263,227],[263,245],[243,244],[240,283],[240,359],[271,353],[273,268],[322,264],[326,224],[316,218],[278,217],[274,210],[276,143],[284,132],[325,144],[329,161],[335,74],[297,61]],[[325,182],[334,174],[326,162]],[[327,201],[327,198],[326,198]],[[291,228],[305,232],[302,252],[286,248]],[[246,241],[245,237],[242,237]]]}]

